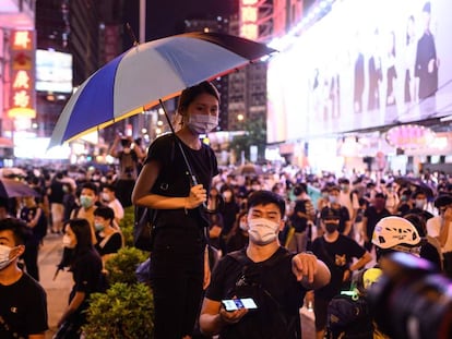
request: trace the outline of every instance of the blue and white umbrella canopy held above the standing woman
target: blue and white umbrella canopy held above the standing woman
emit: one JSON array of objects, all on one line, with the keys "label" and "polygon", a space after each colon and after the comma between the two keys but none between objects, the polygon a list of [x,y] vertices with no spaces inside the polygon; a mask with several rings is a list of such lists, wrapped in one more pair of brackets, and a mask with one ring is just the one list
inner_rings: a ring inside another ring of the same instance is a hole
[{"label": "blue and white umbrella canopy held above the standing woman", "polygon": [[275,50],[219,33],[187,33],[138,45],[88,77],[66,105],[49,147],[105,128]]}]

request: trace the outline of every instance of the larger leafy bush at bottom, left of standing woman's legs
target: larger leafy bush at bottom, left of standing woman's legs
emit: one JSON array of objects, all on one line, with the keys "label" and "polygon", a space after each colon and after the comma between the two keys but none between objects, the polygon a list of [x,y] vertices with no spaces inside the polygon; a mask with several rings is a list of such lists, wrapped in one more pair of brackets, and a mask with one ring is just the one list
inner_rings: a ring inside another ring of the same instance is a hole
[{"label": "larger leafy bush at bottom, left of standing woman's legs", "polygon": [[154,338],[154,303],[143,283],[117,282],[106,293],[93,293],[83,326],[90,339]]}]

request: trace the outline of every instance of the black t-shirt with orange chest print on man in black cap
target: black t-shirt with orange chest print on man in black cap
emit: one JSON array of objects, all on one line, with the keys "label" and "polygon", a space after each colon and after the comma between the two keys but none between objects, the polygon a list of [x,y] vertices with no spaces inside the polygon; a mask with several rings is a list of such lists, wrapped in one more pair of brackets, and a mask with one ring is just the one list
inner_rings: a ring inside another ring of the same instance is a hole
[{"label": "black t-shirt with orange chest print on man in black cap", "polygon": [[353,258],[360,258],[366,250],[349,237],[338,234],[334,242],[328,242],[323,237],[312,243],[312,252],[330,268],[330,283],[316,290],[316,295],[331,299],[338,294],[343,287],[344,271],[352,264]]}]

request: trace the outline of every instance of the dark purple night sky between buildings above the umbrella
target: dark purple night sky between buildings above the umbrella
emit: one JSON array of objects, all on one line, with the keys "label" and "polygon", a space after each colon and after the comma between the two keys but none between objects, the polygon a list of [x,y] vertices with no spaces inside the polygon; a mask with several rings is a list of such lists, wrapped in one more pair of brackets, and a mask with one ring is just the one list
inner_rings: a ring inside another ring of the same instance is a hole
[{"label": "dark purple night sky between buildings above the umbrella", "polygon": [[[139,39],[139,0],[126,2],[124,24],[130,22]],[[147,0],[146,40],[182,33],[183,20],[215,17],[237,11],[238,0]],[[124,41],[130,44],[131,41]],[[130,46],[129,46],[130,47]]]}]

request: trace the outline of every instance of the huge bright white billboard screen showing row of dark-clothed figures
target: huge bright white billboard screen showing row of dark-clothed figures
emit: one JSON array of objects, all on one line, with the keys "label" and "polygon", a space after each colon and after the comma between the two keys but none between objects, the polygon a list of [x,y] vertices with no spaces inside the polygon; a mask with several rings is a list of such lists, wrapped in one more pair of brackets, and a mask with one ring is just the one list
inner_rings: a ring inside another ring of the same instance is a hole
[{"label": "huge bright white billboard screen showing row of dark-clothed figures", "polygon": [[450,0],[336,1],[269,61],[267,141],[451,114],[450,13]]}]

